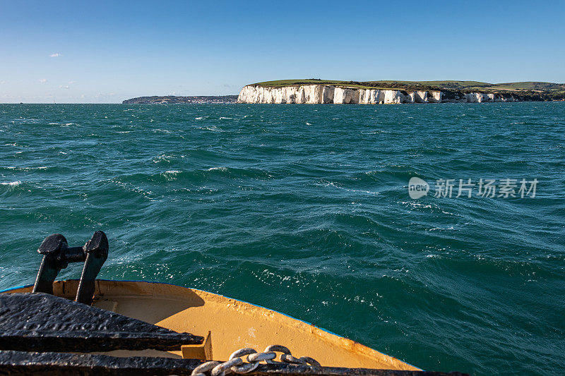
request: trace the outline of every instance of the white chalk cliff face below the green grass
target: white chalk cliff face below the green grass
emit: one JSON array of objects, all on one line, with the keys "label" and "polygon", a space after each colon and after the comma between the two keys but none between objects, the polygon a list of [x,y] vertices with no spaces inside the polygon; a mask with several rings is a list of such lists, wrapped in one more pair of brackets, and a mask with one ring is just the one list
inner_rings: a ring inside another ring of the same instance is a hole
[{"label": "white chalk cliff face below the green grass", "polygon": [[333,85],[299,85],[263,87],[248,85],[237,97],[238,103],[441,103],[441,102],[516,102],[509,95],[481,92],[456,93],[446,97],[441,91],[415,91],[359,89]]}]

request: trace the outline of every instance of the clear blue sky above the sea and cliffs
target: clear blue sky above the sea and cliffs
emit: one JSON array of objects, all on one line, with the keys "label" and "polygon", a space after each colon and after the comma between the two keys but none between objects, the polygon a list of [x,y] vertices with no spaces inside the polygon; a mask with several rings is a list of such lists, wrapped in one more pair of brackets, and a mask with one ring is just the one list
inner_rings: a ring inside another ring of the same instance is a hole
[{"label": "clear blue sky above the sea and cliffs", "polygon": [[299,78],[565,83],[565,1],[0,0],[0,103]]}]

